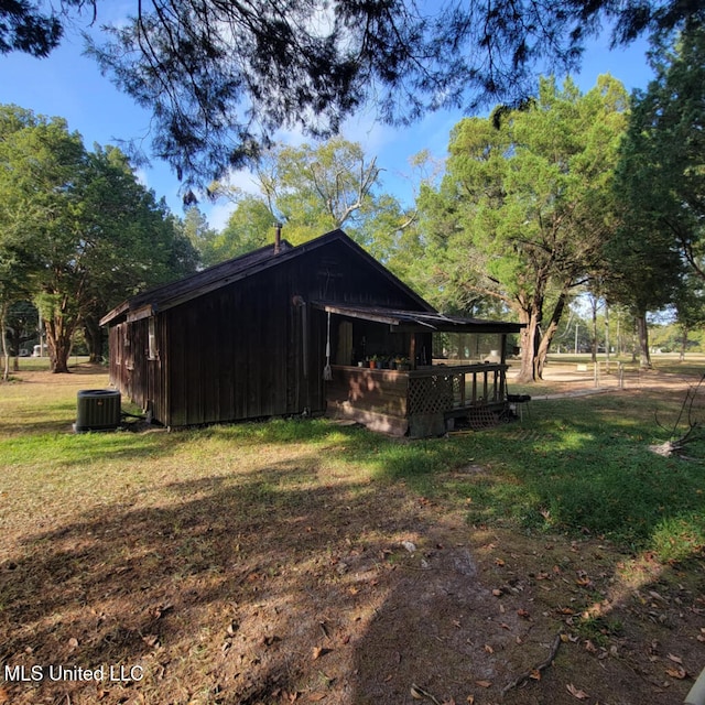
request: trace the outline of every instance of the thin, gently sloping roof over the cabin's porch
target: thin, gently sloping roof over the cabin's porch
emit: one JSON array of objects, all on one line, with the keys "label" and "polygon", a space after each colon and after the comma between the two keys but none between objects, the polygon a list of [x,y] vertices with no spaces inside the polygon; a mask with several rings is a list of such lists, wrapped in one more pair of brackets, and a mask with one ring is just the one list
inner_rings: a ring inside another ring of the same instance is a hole
[{"label": "thin, gently sloping roof over the cabin's porch", "polygon": [[398,311],[380,306],[313,302],[327,313],[389,325],[392,333],[519,333],[524,324],[447,316],[433,311]]}]

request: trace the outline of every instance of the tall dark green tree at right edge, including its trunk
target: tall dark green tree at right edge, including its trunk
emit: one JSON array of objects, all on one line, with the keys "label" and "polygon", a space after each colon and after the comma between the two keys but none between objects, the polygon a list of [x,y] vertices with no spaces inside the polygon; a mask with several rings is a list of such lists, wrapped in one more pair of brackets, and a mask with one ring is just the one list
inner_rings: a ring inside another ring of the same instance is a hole
[{"label": "tall dark green tree at right edge, including its trunk", "polygon": [[655,78],[632,96],[615,194],[619,228],[605,247],[607,293],[633,313],[649,366],[647,313],[676,304],[684,328],[705,279],[705,29],[654,41]]}]

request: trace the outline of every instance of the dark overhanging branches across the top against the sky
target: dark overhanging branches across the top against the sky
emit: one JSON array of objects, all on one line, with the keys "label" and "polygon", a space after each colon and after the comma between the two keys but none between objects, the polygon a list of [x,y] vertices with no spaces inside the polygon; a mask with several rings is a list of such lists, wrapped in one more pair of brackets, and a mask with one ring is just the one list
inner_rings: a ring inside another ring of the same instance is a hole
[{"label": "dark overhanging branches across the top against the sky", "polygon": [[[44,56],[66,22],[100,11],[0,0],[0,52]],[[699,0],[152,0],[94,33],[90,53],[153,112],[153,152],[189,186],[245,165],[280,128],[330,135],[366,104],[395,124],[513,105],[538,69],[576,68],[603,24],[620,44],[702,13]]]}]

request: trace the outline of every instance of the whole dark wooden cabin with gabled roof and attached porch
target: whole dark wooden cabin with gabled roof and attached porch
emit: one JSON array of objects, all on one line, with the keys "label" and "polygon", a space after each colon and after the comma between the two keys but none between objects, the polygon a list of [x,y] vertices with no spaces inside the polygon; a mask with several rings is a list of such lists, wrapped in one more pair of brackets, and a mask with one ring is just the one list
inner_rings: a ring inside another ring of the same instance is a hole
[{"label": "whole dark wooden cabin with gabled roof and attached porch", "polygon": [[[412,435],[441,431],[458,401],[503,406],[506,336],[519,330],[438,314],[341,230],[139,294],[101,324],[110,382],[166,426],[327,411]],[[479,388],[478,372],[433,366],[442,330],[501,338]],[[370,369],[370,358],[402,369]]]}]

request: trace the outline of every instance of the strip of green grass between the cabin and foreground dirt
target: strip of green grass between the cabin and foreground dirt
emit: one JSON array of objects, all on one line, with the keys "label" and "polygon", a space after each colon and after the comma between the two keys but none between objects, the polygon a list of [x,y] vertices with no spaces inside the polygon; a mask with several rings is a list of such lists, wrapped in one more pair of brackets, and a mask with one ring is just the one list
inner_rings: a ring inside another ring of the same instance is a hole
[{"label": "strip of green grass between the cabin and foreground dirt", "polygon": [[[159,498],[163,481],[209,477],[263,486],[260,476],[270,468],[295,466],[276,476],[278,492],[323,471],[352,486],[405,482],[420,495],[467,505],[471,522],[604,534],[663,557],[705,544],[703,466],[649,449],[668,436],[657,412],[671,423],[680,392],[532,402],[521,424],[416,442],[325,420],[75,435],[77,390],[107,383],[100,370],[78,370],[41,381],[30,373],[0,388],[0,523],[17,521],[19,508],[23,517],[66,514],[142,492]],[[705,457],[704,451],[696,443],[692,455]],[[467,471],[475,466],[482,471]]]}]

